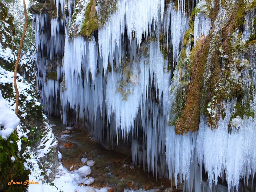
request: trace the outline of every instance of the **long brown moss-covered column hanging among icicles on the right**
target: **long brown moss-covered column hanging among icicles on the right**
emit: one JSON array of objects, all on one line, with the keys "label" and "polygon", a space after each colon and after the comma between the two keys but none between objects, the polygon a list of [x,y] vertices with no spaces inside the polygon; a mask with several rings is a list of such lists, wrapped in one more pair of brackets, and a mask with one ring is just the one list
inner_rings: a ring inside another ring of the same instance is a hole
[{"label": "long brown moss-covered column hanging among icicles on the right", "polygon": [[184,132],[187,133],[188,131],[196,131],[199,127],[203,74],[205,72],[208,52],[209,38],[207,37],[200,38],[197,45],[191,51],[191,81],[185,96],[186,104],[175,126],[176,134],[183,134]]}]

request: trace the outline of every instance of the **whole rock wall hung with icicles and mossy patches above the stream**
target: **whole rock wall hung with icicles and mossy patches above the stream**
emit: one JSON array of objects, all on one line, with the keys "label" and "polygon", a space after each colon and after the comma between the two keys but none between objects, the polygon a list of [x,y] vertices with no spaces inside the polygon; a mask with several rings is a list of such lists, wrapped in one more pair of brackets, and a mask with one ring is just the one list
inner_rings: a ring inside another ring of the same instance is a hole
[{"label": "whole rock wall hung with icicles and mossy patches above the stream", "polygon": [[[131,143],[135,165],[184,191],[239,191],[256,171],[255,8],[243,2],[239,24],[241,2],[58,0],[50,14],[34,1],[44,111]],[[196,131],[177,134],[189,118]]]}]

